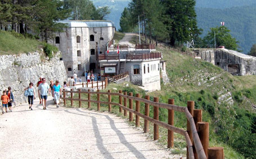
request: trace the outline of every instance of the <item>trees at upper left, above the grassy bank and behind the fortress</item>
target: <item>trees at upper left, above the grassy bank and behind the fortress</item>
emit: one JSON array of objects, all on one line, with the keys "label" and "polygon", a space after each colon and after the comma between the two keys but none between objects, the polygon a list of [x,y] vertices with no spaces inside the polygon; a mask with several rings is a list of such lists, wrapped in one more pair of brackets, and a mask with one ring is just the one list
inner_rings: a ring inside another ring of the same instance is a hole
[{"label": "trees at upper left, above the grassy bank and behind the fortress", "polygon": [[109,13],[108,7],[96,8],[90,0],[0,0],[0,29],[32,30],[47,41],[65,27],[60,20],[105,20]]}]

